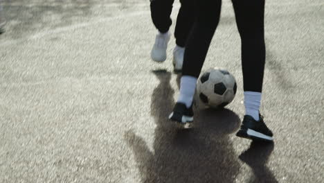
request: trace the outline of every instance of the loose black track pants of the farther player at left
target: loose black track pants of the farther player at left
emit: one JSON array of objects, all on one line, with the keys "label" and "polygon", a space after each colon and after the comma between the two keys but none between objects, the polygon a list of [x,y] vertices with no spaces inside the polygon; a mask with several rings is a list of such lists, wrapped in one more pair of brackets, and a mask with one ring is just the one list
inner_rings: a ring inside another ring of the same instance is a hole
[{"label": "loose black track pants of the farther player at left", "polygon": [[[174,37],[178,46],[185,47],[187,37],[195,21],[195,0],[180,0],[181,8],[177,17]],[[168,32],[172,20],[170,15],[174,0],[151,0],[151,17],[154,26],[161,32]]]}]

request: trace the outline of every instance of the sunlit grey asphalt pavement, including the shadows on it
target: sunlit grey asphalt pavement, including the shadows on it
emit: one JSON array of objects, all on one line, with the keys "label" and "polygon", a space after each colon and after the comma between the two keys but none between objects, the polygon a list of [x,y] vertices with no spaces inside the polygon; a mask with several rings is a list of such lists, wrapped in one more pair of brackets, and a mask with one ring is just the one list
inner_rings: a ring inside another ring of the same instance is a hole
[{"label": "sunlit grey asphalt pavement, including the shadows on it", "polygon": [[[5,0],[0,35],[0,182],[323,182],[324,3],[267,1],[262,113],[274,143],[235,137],[244,115],[231,1],[203,70],[224,67],[226,110],[167,120],[179,94],[150,49],[147,0]],[[176,1],[172,18],[179,10]],[[172,26],[174,30],[174,25]]]}]

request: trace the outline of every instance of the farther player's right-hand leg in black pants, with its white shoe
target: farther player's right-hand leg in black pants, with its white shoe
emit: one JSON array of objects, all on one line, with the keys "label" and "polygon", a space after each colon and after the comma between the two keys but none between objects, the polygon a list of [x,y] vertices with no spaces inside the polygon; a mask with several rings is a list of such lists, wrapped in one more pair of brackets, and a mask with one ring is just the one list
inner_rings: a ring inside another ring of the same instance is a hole
[{"label": "farther player's right-hand leg in black pants, with its white shoe", "polygon": [[197,0],[180,0],[181,8],[177,17],[174,31],[176,44],[173,50],[174,71],[179,72],[183,65],[183,56],[188,40],[188,35],[195,21],[195,2]]}]

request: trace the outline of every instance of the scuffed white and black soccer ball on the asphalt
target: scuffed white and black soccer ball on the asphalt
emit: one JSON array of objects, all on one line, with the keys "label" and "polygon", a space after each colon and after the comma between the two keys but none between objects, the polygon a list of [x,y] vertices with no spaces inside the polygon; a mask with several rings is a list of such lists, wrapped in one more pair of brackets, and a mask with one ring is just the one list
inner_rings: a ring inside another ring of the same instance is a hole
[{"label": "scuffed white and black soccer ball on the asphalt", "polygon": [[197,81],[196,100],[199,107],[222,108],[233,101],[236,90],[231,73],[225,69],[208,69]]}]

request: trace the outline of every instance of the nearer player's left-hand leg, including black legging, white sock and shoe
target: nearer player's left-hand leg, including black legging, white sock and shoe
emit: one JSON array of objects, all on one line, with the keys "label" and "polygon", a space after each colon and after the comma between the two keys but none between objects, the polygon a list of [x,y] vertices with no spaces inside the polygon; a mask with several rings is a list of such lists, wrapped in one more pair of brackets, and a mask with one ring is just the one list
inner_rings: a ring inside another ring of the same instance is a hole
[{"label": "nearer player's left-hand leg, including black legging, white sock and shoe", "polygon": [[186,113],[188,113],[188,110],[192,110],[197,78],[217,28],[221,6],[221,0],[197,1],[197,18],[188,37],[184,54],[180,95],[172,114],[169,116],[173,121],[186,123],[193,120],[190,118],[186,121]]}]

